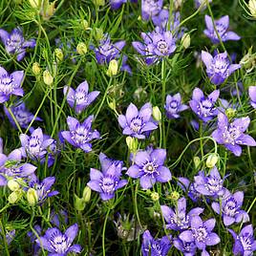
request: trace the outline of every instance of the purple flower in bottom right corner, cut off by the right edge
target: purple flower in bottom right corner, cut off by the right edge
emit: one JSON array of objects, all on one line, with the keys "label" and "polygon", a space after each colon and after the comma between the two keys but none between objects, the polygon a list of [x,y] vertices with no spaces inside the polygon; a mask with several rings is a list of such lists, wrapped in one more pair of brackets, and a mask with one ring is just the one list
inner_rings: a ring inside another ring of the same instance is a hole
[{"label": "purple flower in bottom right corner, cut off by the right edge", "polygon": [[252,256],[253,251],[256,250],[256,241],[253,237],[252,224],[247,224],[237,235],[232,229],[228,229],[235,240],[233,246],[234,255]]}]

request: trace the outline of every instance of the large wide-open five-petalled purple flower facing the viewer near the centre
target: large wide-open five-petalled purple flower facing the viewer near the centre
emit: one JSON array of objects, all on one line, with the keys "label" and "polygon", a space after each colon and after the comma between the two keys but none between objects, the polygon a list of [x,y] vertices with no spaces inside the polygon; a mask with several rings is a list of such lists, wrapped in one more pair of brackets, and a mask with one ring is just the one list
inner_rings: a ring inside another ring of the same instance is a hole
[{"label": "large wide-open five-petalled purple flower facing the viewer near the centre", "polygon": [[151,188],[156,181],[171,181],[170,170],[163,166],[165,159],[165,149],[159,148],[151,152],[139,151],[135,156],[135,164],[128,169],[126,174],[134,179],[139,179],[143,189]]}]

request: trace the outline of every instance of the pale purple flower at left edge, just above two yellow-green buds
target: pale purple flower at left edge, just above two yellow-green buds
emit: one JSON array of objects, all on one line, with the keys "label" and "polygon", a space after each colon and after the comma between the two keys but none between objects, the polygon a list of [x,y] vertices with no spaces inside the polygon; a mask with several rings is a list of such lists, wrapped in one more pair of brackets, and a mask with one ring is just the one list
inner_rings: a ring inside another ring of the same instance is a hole
[{"label": "pale purple flower at left edge, just above two yellow-green buds", "polygon": [[21,163],[22,152],[13,150],[9,156],[0,153],[0,186],[7,185],[8,180],[17,178],[29,178],[36,167],[31,163]]}]

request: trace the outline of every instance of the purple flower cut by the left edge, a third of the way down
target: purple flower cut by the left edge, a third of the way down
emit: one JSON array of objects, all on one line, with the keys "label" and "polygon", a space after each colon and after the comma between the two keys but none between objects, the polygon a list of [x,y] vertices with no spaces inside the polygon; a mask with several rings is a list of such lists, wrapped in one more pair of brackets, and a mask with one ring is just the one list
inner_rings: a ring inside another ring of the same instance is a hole
[{"label": "purple flower cut by the left edge, a third of the way down", "polygon": [[24,95],[21,88],[23,77],[24,71],[15,71],[9,75],[4,68],[0,67],[0,103],[8,101],[11,95]]}]

